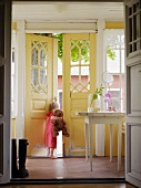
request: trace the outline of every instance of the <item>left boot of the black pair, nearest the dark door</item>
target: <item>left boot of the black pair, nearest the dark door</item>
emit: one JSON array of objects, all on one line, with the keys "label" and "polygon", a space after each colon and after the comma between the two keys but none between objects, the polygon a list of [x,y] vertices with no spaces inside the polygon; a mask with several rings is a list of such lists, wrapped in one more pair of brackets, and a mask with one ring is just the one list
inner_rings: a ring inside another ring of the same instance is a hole
[{"label": "left boot of the black pair, nearest the dark door", "polygon": [[17,164],[17,139],[12,139],[11,147],[12,147],[11,177],[12,178],[18,178],[19,177],[19,171],[18,171],[18,164]]}]

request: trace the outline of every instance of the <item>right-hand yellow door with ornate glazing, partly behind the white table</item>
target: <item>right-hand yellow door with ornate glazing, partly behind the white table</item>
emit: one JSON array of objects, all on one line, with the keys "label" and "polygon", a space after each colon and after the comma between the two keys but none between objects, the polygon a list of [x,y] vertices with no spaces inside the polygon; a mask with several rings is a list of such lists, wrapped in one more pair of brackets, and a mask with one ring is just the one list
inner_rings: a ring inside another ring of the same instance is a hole
[{"label": "right-hand yellow door with ornate glazing, partly behind the white table", "polygon": [[95,88],[95,33],[64,34],[63,112],[69,138],[63,138],[67,156],[84,155],[84,122],[77,111],[87,111],[88,95]]}]

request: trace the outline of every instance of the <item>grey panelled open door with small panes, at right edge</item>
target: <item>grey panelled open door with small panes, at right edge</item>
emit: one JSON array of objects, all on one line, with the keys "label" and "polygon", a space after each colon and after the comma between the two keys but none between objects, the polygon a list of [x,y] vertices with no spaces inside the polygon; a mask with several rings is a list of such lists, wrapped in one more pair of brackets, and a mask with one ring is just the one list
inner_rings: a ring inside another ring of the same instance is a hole
[{"label": "grey panelled open door with small panes, at right edge", "polygon": [[125,179],[141,187],[141,1],[124,0],[127,36]]}]

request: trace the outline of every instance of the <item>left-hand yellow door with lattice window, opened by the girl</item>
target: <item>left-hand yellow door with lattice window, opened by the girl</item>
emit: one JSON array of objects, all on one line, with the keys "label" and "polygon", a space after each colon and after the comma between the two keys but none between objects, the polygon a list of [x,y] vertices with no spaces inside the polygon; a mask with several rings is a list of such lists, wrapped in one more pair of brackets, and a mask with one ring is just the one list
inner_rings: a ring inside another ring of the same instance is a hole
[{"label": "left-hand yellow door with lattice window, opened by the girl", "polygon": [[57,96],[57,48],[52,38],[27,34],[26,62],[26,138],[28,155],[44,145],[46,118],[49,103]]}]

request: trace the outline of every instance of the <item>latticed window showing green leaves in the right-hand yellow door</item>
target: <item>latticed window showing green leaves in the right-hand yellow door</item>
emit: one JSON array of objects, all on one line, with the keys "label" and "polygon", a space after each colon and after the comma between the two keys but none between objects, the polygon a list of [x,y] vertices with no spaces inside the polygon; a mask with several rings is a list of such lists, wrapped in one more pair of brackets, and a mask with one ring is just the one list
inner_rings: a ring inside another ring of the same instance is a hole
[{"label": "latticed window showing green leaves in the right-hand yellow door", "polygon": [[90,90],[90,41],[71,40],[71,88],[72,93],[87,93]]}]

